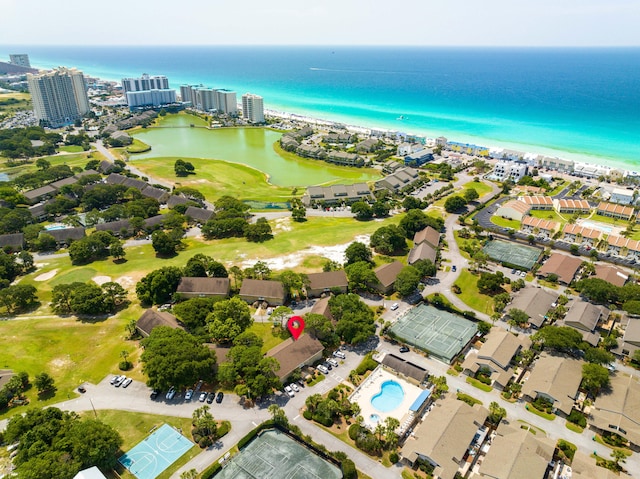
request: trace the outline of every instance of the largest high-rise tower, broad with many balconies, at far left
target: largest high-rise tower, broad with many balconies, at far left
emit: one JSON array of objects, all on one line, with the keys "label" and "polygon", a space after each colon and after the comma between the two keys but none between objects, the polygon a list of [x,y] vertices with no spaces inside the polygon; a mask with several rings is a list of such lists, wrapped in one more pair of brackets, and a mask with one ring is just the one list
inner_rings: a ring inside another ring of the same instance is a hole
[{"label": "largest high-rise tower, broad with many balconies, at far left", "polygon": [[84,76],[75,68],[28,74],[27,83],[35,116],[45,126],[69,125],[90,110]]}]

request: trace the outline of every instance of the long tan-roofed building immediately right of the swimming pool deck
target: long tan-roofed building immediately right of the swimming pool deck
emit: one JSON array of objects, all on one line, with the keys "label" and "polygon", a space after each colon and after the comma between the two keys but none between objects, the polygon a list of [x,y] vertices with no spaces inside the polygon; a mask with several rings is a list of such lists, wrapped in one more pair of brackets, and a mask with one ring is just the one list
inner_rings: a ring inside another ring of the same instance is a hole
[{"label": "long tan-roofed building immediately right of the swimming pool deck", "polygon": [[434,479],[454,479],[464,466],[474,438],[483,428],[488,411],[476,404],[448,396],[436,403],[429,415],[413,431],[400,454],[415,467],[419,460],[434,466]]}]

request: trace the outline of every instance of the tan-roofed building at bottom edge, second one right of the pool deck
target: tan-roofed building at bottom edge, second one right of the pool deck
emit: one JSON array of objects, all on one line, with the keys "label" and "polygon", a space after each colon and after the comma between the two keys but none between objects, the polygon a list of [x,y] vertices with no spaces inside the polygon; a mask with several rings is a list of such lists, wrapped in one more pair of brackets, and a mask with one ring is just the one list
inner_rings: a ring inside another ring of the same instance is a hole
[{"label": "tan-roofed building at bottom edge, second one right of the pool deck", "polygon": [[478,470],[493,479],[546,479],[555,441],[501,423]]}]

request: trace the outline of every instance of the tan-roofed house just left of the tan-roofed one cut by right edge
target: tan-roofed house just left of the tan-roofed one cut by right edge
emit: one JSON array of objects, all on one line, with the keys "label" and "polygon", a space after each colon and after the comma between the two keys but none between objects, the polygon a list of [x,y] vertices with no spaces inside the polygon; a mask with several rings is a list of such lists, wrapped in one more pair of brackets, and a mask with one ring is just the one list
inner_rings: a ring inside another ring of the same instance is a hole
[{"label": "tan-roofed house just left of the tan-roofed one cut by right edge", "polygon": [[561,416],[568,416],[578,396],[583,364],[578,359],[542,353],[522,386],[523,396],[527,401],[543,397]]}]

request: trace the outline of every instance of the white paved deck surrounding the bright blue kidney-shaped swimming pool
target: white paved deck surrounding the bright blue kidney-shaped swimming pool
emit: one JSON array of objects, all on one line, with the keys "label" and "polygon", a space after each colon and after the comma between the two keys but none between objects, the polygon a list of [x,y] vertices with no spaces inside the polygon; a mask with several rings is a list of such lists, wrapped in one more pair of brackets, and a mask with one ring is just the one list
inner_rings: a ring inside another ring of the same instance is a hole
[{"label": "white paved deck surrounding the bright blue kidney-shaped swimming pool", "polygon": [[[404,391],[404,398],[400,405],[389,412],[378,411],[371,404],[371,398],[380,392],[381,385],[385,381],[397,382],[402,386],[402,390]],[[369,429],[375,429],[377,422],[371,420],[372,414],[377,414],[380,417],[378,422],[384,422],[387,417],[391,416],[395,417],[402,424],[409,412],[409,408],[418,398],[420,393],[422,393],[422,389],[418,386],[414,386],[395,374],[383,369],[382,366],[378,366],[354,391],[349,400],[351,402],[357,402],[360,406],[360,414],[364,418],[364,425]]]}]

